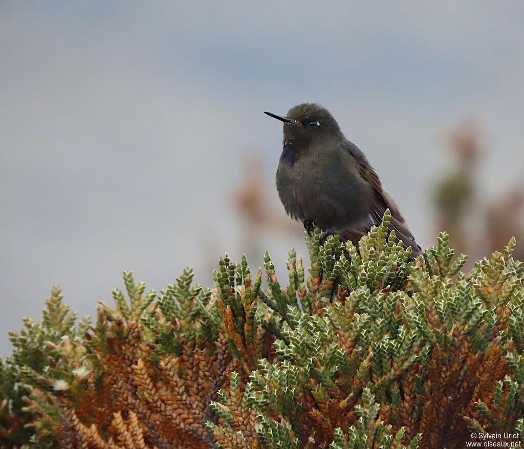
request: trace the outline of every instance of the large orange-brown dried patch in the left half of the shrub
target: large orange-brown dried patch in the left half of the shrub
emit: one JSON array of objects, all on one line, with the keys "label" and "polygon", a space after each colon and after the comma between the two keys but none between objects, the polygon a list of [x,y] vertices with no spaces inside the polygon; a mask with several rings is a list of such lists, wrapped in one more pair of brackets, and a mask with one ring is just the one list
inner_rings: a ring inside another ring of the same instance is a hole
[{"label": "large orange-brown dried patch in the left half of the shrub", "polygon": [[206,421],[213,418],[209,403],[231,371],[238,369],[225,350],[225,338],[216,341],[215,350],[183,341],[179,357],[162,357],[156,366],[150,346],[129,345],[136,337],[129,333],[113,341],[113,354],[99,358],[100,379],[90,379],[76,407],[63,414],[62,446],[215,447],[205,429]]}]

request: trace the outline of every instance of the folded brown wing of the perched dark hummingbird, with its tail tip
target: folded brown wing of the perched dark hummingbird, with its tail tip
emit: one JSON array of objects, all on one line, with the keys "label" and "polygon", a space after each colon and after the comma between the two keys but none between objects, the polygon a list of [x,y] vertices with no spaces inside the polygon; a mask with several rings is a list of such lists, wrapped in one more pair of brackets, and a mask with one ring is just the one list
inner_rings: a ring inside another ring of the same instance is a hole
[{"label": "folded brown wing of the perched dark hummingbird, with its tail tip", "polygon": [[396,202],[383,189],[382,184],[375,170],[365,159],[356,158],[357,169],[362,179],[373,188],[375,194],[375,201],[373,203],[371,215],[375,225],[379,225],[384,217],[384,212],[389,209],[391,212],[391,220],[389,228],[395,230],[397,240],[401,240],[406,247],[411,247],[411,255],[417,257],[421,253],[421,249],[415,241],[413,234],[406,224],[406,220],[402,217]]}]

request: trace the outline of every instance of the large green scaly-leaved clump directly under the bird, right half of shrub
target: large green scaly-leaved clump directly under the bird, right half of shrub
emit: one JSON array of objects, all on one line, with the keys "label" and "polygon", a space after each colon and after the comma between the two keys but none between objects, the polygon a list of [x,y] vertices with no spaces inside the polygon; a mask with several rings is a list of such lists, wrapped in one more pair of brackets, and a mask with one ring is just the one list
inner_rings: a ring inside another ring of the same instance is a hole
[{"label": "large green scaly-leaved clump directly under the bird, right half of shrub", "polygon": [[[390,447],[394,440],[417,447],[420,434],[407,437],[402,429],[392,432],[390,426],[374,422],[370,416],[375,417],[377,404],[383,404],[391,408],[389,422],[397,422],[401,395],[409,393],[412,419],[419,420],[424,407],[421,398],[431,394],[427,378],[433,349],[439,348],[443,354],[460,351],[465,337],[472,341],[473,354],[487,354],[499,338],[508,344],[504,348],[512,376],[499,383],[494,406],[488,409],[479,401],[477,411],[493,429],[515,431],[515,423],[520,425],[524,410],[523,276],[522,263],[511,258],[515,242],[512,240],[503,253],[479,262],[466,276],[460,270],[467,257],[461,254],[454,259],[446,233],[440,234],[435,247],[410,262],[410,250],[395,242],[394,232],[388,234],[389,218],[387,212],[383,223],[362,238],[358,249],[351,242],[340,242],[338,236],[331,236],[320,247],[318,230],[306,237],[311,255],[307,291],[302,273],[295,268],[294,251],[287,262],[288,288],[281,288],[276,281],[274,265],[266,253],[270,300],[264,301],[279,318],[275,320],[278,332],[274,330],[277,358],[260,361],[242,404],[256,411],[260,422],[273,417],[274,424],[257,429],[260,441],[273,441],[265,432],[275,435],[277,427],[283,440],[280,446],[271,443],[267,447],[292,447],[297,444],[293,435],[300,434],[304,442],[298,423],[305,408],[297,398],[312,397],[320,403],[341,396],[356,403],[358,424],[345,432],[338,429],[332,447],[368,447],[372,440],[374,447]],[[321,279],[321,285],[315,285],[315,279]],[[344,301],[330,301],[336,283],[349,293]],[[349,354],[341,347],[341,335],[351,342]],[[465,379],[466,359],[462,363],[460,376]],[[352,376],[366,387],[355,389]],[[411,391],[401,387],[405,382],[412,383]],[[373,404],[375,398],[378,403]],[[227,408],[226,402],[224,406]]]}]

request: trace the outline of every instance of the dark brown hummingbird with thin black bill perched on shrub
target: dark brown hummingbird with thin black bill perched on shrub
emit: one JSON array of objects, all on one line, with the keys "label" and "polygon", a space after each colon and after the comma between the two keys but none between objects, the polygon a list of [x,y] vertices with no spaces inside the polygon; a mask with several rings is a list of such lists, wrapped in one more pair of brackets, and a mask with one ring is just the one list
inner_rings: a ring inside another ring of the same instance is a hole
[{"label": "dark brown hummingbird with thin black bill perched on shrub", "polygon": [[328,110],[303,103],[287,116],[265,113],[284,122],[277,190],[291,218],[302,221],[308,231],[319,226],[324,231],[322,240],[339,232],[343,240],[357,243],[389,209],[389,228],[405,247],[411,247],[411,257],[421,254],[366,156],[345,138]]}]

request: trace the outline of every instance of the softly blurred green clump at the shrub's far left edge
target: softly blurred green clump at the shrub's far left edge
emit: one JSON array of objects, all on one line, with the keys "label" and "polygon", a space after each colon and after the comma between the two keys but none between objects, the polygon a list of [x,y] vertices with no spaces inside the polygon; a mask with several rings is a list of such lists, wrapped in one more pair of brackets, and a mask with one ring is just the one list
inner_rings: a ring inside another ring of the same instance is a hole
[{"label": "softly blurred green clump at the shrub's far left edge", "polygon": [[[73,372],[74,368],[62,359],[68,351],[74,351],[72,342],[90,325],[89,319],[77,327],[77,314],[62,303],[58,286],[52,288],[42,315],[38,323],[24,318],[24,328],[19,334],[9,332],[13,354],[0,360],[0,441],[7,447],[30,439],[38,441],[38,447],[52,447],[50,420],[37,419],[35,407],[58,420],[60,410],[53,394],[60,395],[61,391],[76,386],[75,379],[85,379],[82,370]],[[38,439],[34,429],[39,430]]]}]

